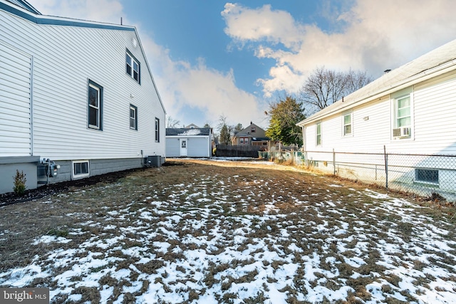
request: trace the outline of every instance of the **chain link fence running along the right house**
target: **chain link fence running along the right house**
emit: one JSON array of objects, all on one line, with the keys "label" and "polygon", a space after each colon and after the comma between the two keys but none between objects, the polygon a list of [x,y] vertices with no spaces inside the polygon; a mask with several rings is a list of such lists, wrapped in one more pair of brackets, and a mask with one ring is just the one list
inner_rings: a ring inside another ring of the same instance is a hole
[{"label": "chain link fence running along the right house", "polygon": [[276,152],[260,157],[293,162],[386,189],[456,201],[456,155]]}]

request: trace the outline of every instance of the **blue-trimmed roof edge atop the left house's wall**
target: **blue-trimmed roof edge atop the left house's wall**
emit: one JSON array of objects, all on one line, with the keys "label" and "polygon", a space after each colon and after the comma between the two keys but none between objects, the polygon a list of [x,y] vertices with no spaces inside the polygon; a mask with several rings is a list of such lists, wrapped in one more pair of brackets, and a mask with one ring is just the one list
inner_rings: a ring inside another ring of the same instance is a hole
[{"label": "blue-trimmed roof edge atop the left house's wall", "polygon": [[[1,0],[0,0],[1,1]],[[11,4],[11,5],[10,5]],[[123,26],[117,25],[114,23],[101,23],[95,21],[86,21],[81,19],[70,19],[70,18],[63,18],[57,16],[44,16],[41,13],[33,14],[26,9],[22,9],[16,4],[12,4],[11,2],[0,2],[0,9],[7,11],[11,14],[21,17],[22,19],[26,19],[36,24],[41,25],[48,25],[48,26],[79,26],[84,28],[103,28],[103,29],[110,29],[110,30],[118,30],[118,31],[136,31],[134,26]],[[35,9],[36,11],[36,9]]]}]

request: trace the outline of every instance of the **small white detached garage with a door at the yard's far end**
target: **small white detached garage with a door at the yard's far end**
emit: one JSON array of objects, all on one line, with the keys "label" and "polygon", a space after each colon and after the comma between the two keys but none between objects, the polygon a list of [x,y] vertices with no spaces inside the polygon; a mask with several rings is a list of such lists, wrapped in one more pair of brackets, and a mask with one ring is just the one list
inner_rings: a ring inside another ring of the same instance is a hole
[{"label": "small white detached garage with a door at the yard's far end", "polygon": [[212,128],[166,129],[166,157],[211,157]]}]

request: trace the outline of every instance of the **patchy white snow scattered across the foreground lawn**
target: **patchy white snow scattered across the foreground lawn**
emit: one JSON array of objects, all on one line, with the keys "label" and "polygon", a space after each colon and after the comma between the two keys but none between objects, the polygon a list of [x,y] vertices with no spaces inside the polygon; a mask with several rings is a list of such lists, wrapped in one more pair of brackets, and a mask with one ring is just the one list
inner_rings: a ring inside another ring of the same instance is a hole
[{"label": "patchy white snow scattered across the foreground lawn", "polygon": [[[348,189],[348,196],[375,200],[359,201],[353,214],[342,199],[316,193],[318,204],[289,198],[290,208],[299,207],[289,211],[285,193],[257,201],[274,180],[233,175],[217,191],[210,181],[172,185],[167,199],[152,193],[141,204],[107,203],[98,221],[87,221],[83,210],[68,214],[80,224],[66,238],[34,240],[53,249],[0,273],[0,286],[47,278],[58,303],[90,302],[90,288],[100,303],[456,303],[453,228],[415,204]],[[240,194],[233,184],[243,184]]]}]

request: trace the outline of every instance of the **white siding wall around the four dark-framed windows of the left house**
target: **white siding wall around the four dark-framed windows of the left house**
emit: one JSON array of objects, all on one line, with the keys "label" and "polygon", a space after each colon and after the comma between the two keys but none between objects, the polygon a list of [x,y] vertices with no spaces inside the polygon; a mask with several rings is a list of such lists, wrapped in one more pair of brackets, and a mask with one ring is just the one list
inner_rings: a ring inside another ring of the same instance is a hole
[{"label": "white siding wall around the four dark-framed windows of the left house", "polygon": [[[165,111],[135,31],[38,25],[0,11],[0,40],[33,54],[33,154],[65,159],[165,156]],[[141,84],[125,73],[125,51]],[[103,87],[103,130],[88,128],[88,80]],[[133,96],[133,98],[131,98]],[[130,130],[130,103],[138,130]],[[160,142],[155,142],[155,117]]]}]

